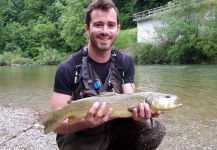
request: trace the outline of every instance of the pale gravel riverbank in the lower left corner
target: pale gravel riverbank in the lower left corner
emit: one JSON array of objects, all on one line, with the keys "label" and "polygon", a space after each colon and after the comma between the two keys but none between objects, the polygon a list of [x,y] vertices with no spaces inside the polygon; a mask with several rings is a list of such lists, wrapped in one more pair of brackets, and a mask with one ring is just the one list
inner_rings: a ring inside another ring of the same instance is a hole
[{"label": "pale gravel riverbank in the lower left corner", "polygon": [[54,134],[43,134],[40,112],[0,106],[1,150],[57,150]]}]

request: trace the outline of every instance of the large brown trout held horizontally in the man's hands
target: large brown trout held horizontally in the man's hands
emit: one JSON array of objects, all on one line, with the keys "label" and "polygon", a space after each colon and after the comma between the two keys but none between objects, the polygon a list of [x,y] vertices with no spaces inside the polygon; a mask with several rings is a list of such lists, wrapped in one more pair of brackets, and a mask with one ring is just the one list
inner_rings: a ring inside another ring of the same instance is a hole
[{"label": "large brown trout held horizontally in the man's hands", "polygon": [[106,110],[113,109],[112,117],[127,118],[132,116],[132,110],[138,107],[139,103],[146,102],[152,111],[173,110],[182,104],[176,95],[163,94],[157,92],[138,92],[132,94],[116,94],[106,92],[99,96],[72,101],[62,109],[48,112],[43,116],[45,134],[55,130],[61,122],[70,118],[70,122],[84,118],[95,102],[106,102]]}]

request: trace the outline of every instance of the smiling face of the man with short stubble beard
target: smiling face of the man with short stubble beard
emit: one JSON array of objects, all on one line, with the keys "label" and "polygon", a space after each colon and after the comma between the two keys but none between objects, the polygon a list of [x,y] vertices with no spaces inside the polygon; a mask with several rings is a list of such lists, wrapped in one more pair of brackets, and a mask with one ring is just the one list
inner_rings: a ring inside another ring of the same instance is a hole
[{"label": "smiling face of the man with short stubble beard", "polygon": [[113,8],[103,11],[96,9],[91,13],[90,25],[86,25],[89,44],[94,50],[110,50],[120,30],[117,14]]}]

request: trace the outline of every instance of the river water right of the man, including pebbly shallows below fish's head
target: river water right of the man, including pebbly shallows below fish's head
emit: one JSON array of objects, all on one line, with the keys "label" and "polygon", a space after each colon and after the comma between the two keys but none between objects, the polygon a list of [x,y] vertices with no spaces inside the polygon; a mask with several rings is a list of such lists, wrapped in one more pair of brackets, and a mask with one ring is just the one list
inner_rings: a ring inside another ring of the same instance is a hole
[{"label": "river water right of the man, including pebbly shallows below fish's head", "polygon": [[160,120],[167,134],[159,150],[214,150],[217,147],[217,66],[137,66],[138,91],[181,97],[183,106]]}]

